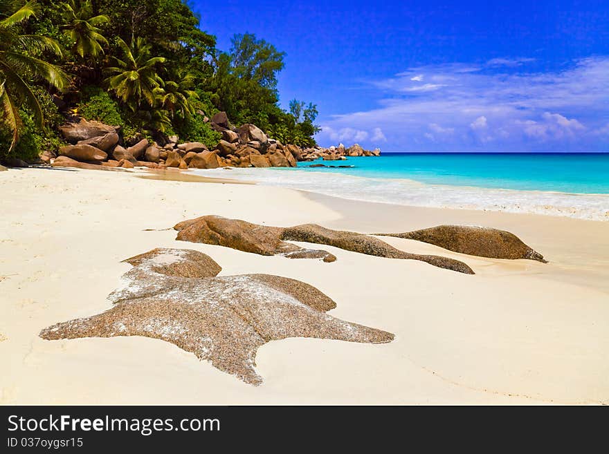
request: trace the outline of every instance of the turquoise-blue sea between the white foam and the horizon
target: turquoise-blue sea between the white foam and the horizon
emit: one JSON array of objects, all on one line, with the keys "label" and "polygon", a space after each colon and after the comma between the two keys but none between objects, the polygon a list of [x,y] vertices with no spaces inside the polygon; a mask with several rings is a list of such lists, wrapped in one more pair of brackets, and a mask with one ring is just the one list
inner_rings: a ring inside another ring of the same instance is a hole
[{"label": "turquoise-blue sea between the white foam and the horizon", "polygon": [[349,169],[298,169],[367,178],[408,178],[433,185],[523,191],[609,193],[609,153],[385,153],[322,162]]}]

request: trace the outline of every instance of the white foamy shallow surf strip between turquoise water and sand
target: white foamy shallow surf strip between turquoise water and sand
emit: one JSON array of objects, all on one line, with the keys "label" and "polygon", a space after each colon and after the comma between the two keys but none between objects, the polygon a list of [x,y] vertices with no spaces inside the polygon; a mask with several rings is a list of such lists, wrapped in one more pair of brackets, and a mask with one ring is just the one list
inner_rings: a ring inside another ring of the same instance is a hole
[{"label": "white foamy shallow surf strip between turquoise water and sand", "polygon": [[203,169],[195,170],[194,173],[216,178],[221,176],[255,181],[261,185],[289,187],[351,200],[609,221],[609,194],[426,185],[398,178],[364,178],[338,172],[296,169]]}]

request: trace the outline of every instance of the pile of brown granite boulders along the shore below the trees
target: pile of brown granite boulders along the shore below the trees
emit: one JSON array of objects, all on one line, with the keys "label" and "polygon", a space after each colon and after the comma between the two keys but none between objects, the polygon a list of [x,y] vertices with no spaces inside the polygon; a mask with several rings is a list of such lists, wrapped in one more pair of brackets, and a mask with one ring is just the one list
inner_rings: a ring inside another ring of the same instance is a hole
[{"label": "pile of brown granite boulders along the shore below the trees", "polygon": [[148,167],[150,169],[216,169],[217,167],[296,167],[298,161],[345,160],[347,156],[378,156],[379,149],[364,150],[354,144],[330,148],[302,149],[293,144],[282,144],[269,138],[255,124],[231,126],[226,113],[219,112],[210,120],[222,138],[213,149],[201,142],[180,143],[171,135],[162,143],[142,139],[123,144],[114,126],[80,118],[60,127],[70,144],[62,146],[58,154],[46,151],[42,162],[54,167],[108,169]]}]

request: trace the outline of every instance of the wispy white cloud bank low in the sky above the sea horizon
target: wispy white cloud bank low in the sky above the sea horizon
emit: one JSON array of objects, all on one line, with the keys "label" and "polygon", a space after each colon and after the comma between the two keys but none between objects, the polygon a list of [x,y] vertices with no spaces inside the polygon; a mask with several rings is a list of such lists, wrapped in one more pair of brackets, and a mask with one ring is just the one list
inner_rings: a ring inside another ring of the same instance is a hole
[{"label": "wispy white cloud bank low in the sky above the sea horizon", "polygon": [[534,61],[419,66],[368,82],[378,107],[330,117],[318,141],[383,142],[388,151],[608,151],[609,57],[547,72],[527,70]]}]

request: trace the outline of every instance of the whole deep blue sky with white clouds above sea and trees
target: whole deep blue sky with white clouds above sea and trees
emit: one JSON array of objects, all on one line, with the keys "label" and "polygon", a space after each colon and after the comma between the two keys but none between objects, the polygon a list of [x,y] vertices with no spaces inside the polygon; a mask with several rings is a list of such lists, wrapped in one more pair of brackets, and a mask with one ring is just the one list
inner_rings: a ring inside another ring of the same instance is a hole
[{"label": "whole deep blue sky with white clouds above sea and trees", "polygon": [[230,48],[287,55],[280,104],[317,104],[322,146],[609,151],[609,1],[192,0]]}]

